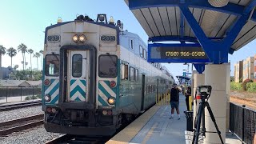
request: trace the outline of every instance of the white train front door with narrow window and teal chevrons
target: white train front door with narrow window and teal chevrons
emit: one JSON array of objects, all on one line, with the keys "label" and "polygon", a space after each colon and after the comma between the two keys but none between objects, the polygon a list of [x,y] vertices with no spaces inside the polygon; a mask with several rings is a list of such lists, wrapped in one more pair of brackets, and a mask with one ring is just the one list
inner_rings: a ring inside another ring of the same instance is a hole
[{"label": "white train front door with narrow window and teal chevrons", "polygon": [[69,50],[67,65],[67,98],[68,102],[87,102],[86,80],[88,80],[86,50]]}]

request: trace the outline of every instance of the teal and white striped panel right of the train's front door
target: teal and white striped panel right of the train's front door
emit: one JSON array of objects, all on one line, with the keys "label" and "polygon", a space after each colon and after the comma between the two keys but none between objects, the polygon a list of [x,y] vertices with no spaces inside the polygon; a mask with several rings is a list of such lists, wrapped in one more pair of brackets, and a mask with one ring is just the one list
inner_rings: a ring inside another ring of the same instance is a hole
[{"label": "teal and white striped panel right of the train's front door", "polygon": [[107,100],[110,97],[116,98],[117,86],[110,87],[110,81],[98,81],[98,106],[111,106]]}]

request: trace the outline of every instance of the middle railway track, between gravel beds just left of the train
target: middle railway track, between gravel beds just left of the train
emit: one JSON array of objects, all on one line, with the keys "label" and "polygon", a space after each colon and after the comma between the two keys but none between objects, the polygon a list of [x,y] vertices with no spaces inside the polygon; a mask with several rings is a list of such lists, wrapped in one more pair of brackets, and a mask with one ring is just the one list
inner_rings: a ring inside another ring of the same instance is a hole
[{"label": "middle railway track, between gravel beds just left of the train", "polygon": [[26,118],[18,118],[7,122],[0,122],[0,137],[42,124],[43,114],[37,114]]}]

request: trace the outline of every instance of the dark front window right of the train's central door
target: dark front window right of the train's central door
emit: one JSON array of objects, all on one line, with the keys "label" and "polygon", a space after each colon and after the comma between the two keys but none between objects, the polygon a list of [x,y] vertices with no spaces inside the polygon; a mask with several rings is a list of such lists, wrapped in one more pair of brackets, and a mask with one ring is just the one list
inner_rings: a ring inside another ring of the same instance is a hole
[{"label": "dark front window right of the train's central door", "polygon": [[116,55],[100,55],[98,58],[98,76],[102,78],[117,77],[117,61]]}]

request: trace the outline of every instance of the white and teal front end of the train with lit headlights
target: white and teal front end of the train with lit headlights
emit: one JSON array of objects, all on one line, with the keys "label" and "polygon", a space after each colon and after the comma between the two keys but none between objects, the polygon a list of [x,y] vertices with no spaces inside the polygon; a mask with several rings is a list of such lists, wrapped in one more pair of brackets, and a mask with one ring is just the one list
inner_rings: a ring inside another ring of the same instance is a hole
[{"label": "white and teal front end of the train with lit headlights", "polygon": [[45,46],[42,110],[46,131],[78,135],[115,133],[117,90],[113,87],[117,85],[118,57],[101,52],[104,44],[98,37],[104,30],[117,37],[116,29],[83,19],[46,30],[47,40],[50,34],[60,35],[58,42],[48,41]]}]

